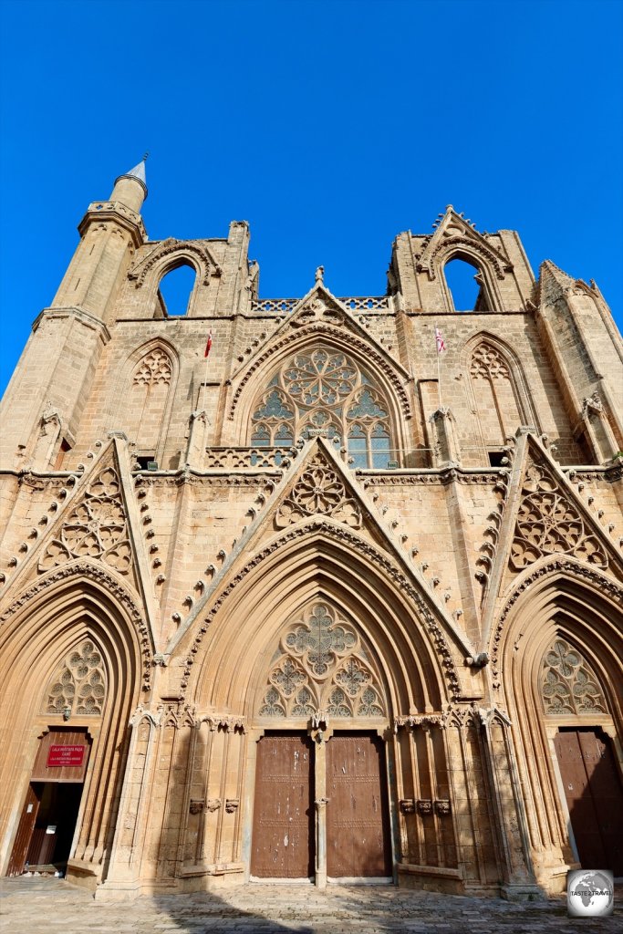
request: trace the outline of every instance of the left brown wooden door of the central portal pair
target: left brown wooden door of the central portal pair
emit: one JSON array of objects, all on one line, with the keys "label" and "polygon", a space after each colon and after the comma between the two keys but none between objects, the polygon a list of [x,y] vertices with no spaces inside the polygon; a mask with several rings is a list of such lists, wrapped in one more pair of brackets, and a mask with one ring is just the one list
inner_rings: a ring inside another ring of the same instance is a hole
[{"label": "left brown wooden door of the central portal pair", "polygon": [[251,874],[307,879],[314,874],[313,747],[303,733],[258,744]]}]

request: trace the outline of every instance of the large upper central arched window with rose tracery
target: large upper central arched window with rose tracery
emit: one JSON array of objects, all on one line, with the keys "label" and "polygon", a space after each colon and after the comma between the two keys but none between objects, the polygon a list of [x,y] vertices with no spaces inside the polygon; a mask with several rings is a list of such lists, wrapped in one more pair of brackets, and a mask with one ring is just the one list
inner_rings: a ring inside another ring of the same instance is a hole
[{"label": "large upper central arched window with rose tracery", "polygon": [[355,468],[385,469],[392,460],[388,404],[347,354],[330,347],[291,357],[251,415],[254,446],[290,446],[318,436],[347,446]]}]

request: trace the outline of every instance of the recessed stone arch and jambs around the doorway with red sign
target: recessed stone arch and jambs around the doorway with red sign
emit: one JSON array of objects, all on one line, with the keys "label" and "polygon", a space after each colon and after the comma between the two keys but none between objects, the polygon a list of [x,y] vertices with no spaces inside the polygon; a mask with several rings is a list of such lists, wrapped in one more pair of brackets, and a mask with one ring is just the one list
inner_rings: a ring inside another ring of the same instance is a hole
[{"label": "recessed stone arch and jambs around the doorway with red sign", "polygon": [[66,571],[37,580],[1,617],[0,869],[17,832],[39,737],[64,725],[62,712],[48,708],[47,690],[64,659],[88,641],[100,657],[106,695],[98,711],[71,714],[70,728],[86,729],[93,744],[72,857],[82,861],[84,875],[98,878],[112,841],[127,725],[141,681],[146,686],[145,649],[138,611],[123,587],[85,562]]}]

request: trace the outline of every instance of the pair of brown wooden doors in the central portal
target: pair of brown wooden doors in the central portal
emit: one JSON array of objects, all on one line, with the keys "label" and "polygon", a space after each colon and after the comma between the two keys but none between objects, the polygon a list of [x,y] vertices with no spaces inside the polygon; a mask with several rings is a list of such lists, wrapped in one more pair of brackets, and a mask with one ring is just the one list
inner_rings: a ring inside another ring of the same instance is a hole
[{"label": "pair of brown wooden doors in the central portal", "polygon": [[389,840],[385,749],[377,736],[344,732],[321,746],[303,732],[262,737],[252,876],[311,879],[319,870],[330,880],[389,878]]}]

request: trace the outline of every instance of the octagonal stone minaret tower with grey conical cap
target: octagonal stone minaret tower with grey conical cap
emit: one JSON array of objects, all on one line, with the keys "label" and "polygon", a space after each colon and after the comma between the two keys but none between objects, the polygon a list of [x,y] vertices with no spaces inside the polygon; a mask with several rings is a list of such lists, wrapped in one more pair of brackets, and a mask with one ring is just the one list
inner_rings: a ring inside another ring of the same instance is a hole
[{"label": "octagonal stone minaret tower with grey conical cap", "polygon": [[146,158],[80,221],[76,252],[52,304],[35,320],[2,403],[0,468],[48,470],[61,447],[74,446],[117,294],[148,239],[139,214],[148,194]]}]

